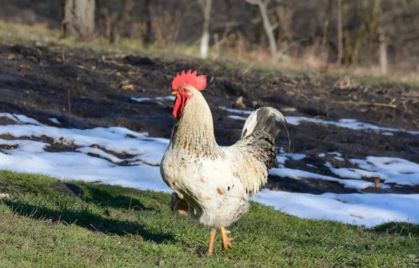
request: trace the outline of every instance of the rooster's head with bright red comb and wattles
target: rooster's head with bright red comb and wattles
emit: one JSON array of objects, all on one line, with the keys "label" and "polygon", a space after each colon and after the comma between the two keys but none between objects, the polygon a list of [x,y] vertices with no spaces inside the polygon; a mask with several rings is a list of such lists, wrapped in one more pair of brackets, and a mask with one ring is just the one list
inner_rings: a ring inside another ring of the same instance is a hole
[{"label": "rooster's head with bright red comb and wattles", "polygon": [[185,73],[182,70],[182,73],[179,73],[173,78],[172,81],[172,95],[176,95],[175,105],[173,106],[173,116],[179,120],[182,116],[182,112],[186,103],[189,99],[192,98],[193,93],[191,92],[191,87],[198,91],[205,89],[207,85],[207,77],[205,75],[196,76],[196,71],[192,73],[192,70],[188,70]]}]

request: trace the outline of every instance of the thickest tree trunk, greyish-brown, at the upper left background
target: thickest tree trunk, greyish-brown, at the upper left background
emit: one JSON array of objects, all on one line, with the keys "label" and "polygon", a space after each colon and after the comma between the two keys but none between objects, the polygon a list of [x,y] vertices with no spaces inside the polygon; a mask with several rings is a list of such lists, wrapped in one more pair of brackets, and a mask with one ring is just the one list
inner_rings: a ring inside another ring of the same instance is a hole
[{"label": "thickest tree trunk, greyish-brown, at the upper left background", "polygon": [[94,38],[95,0],[64,0],[64,37],[76,36],[80,40]]}]

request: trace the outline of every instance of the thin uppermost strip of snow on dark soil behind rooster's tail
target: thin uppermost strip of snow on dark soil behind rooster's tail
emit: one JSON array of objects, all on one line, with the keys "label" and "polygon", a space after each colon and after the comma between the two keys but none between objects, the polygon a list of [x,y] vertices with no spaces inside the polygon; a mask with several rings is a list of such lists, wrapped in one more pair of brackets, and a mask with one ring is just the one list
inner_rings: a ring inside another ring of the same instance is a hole
[{"label": "thin uppermost strip of snow on dark soil behind rooster's tail", "polygon": [[[237,110],[237,109],[229,109],[225,107],[221,107],[221,109],[226,110],[231,113],[235,114],[251,114],[252,111],[248,110]],[[302,122],[311,122],[315,124],[325,124],[325,125],[332,125],[332,126],[338,126],[340,128],[349,128],[353,129],[355,131],[358,130],[373,130],[373,131],[379,131],[383,135],[389,135],[390,133],[394,132],[404,132],[401,129],[397,128],[385,128],[382,126],[376,126],[373,124],[365,123],[362,121],[358,121],[357,119],[339,119],[339,121],[330,121],[330,120],[323,120],[318,118],[312,118],[312,117],[294,117],[294,116],[288,116],[285,117],[288,124],[291,125],[299,125]],[[246,117],[236,117],[235,119],[242,119],[246,120]],[[412,134],[412,135],[419,135],[419,131],[406,131],[406,133]]]}]

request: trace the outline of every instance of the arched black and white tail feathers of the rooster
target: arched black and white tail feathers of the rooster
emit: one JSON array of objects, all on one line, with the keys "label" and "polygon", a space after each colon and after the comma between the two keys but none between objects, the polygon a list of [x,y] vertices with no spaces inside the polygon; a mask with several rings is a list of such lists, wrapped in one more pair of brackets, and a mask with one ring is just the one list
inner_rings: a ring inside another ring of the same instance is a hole
[{"label": "arched black and white tail feathers of the rooster", "polygon": [[278,119],[284,126],[288,135],[288,151],[291,148],[290,132],[288,124],[279,110],[272,107],[260,107],[253,111],[244,123],[242,139],[251,136],[251,144],[263,151],[264,163],[267,168],[277,165],[277,137],[280,131],[277,125]]}]

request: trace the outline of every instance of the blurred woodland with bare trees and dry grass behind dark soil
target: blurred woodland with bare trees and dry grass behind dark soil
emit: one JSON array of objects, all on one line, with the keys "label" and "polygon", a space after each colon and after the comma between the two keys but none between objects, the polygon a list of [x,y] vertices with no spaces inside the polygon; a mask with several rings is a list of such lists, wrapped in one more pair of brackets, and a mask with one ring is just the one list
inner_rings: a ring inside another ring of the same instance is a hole
[{"label": "blurred woodland with bare trees and dry grass behind dark soil", "polygon": [[419,80],[419,0],[1,2],[0,36]]}]

